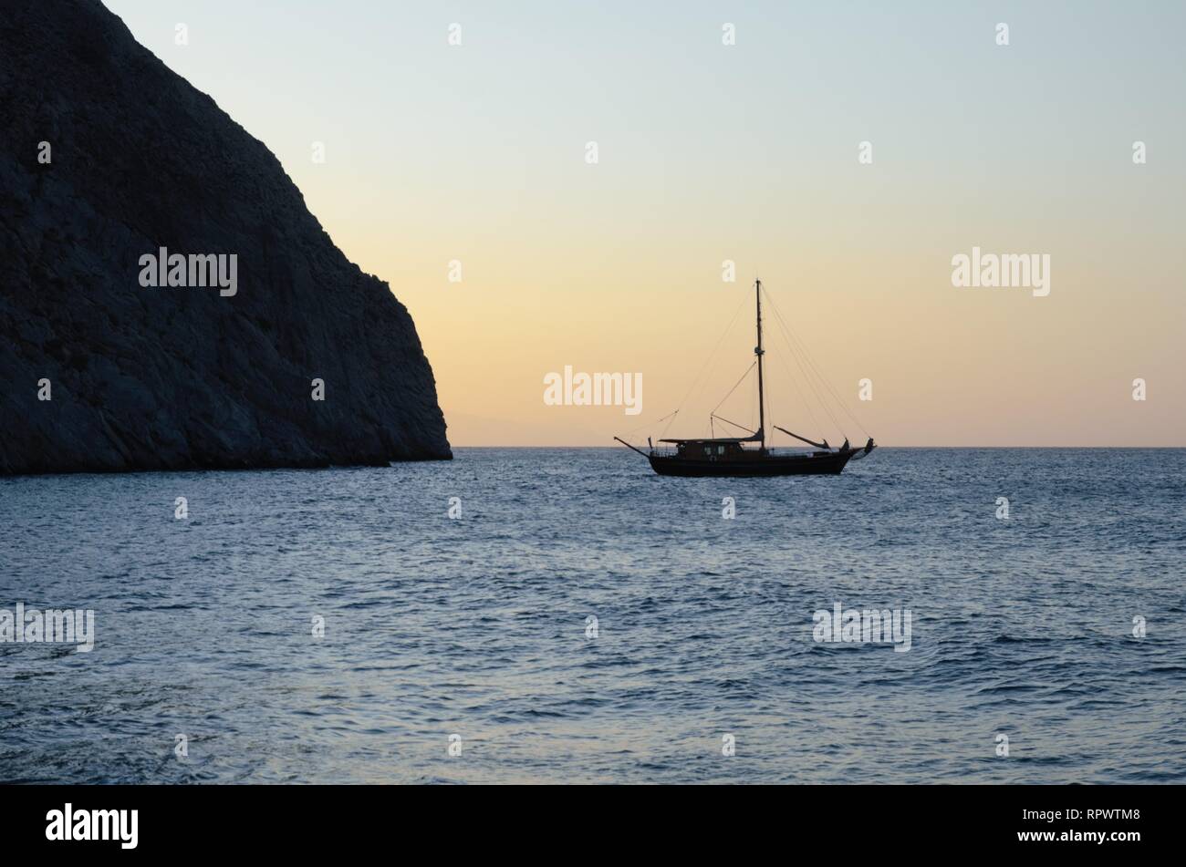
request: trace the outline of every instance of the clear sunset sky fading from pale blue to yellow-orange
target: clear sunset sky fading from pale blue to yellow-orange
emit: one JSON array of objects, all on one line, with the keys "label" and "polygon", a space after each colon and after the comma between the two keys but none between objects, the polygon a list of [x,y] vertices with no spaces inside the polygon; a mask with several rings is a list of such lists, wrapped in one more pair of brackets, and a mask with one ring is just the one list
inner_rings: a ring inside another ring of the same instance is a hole
[{"label": "clear sunset sky fading from pale blue to yellow-orange", "polygon": [[[390,283],[453,445],[709,432],[755,276],[844,404],[769,319],[780,426],[1186,445],[1186,4],[104,2]],[[954,285],[973,248],[1048,293]],[[566,366],[642,411],[547,403]]]}]

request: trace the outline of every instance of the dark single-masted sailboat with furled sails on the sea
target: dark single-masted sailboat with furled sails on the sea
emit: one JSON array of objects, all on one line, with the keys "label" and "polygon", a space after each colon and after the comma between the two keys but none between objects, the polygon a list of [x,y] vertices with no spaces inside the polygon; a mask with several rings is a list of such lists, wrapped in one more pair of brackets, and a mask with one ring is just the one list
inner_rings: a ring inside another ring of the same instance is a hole
[{"label": "dark single-masted sailboat with furled sails on the sea", "polygon": [[[614,437],[627,449],[637,451],[650,461],[651,468],[662,476],[805,476],[839,475],[848,462],[865,457],[876,448],[873,437],[863,447],[852,447],[848,439],[840,448],[833,448],[827,439],[816,442],[792,434],[785,428],[772,425],[774,430],[795,437],[814,447],[814,451],[778,452],[766,448],[766,400],[763,377],[761,343],[761,281],[754,281],[757,302],[758,346],[758,430],[744,437],[710,437],[708,439],[659,439],[661,448],[648,439],[649,450],[643,451],[620,437]],[[777,313],[777,310],[776,310]],[[727,419],[722,419],[727,420]],[[733,424],[729,422],[729,424]],[[740,426],[740,425],[735,425]],[[748,430],[748,429],[745,429]],[[662,448],[667,444],[668,448]]]}]

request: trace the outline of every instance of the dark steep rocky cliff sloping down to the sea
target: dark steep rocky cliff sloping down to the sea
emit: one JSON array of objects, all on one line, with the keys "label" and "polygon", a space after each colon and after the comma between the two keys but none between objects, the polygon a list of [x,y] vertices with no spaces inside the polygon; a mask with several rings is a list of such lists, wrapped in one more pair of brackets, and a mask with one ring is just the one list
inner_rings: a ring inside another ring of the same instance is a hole
[{"label": "dark steep rocky cliff sloping down to the sea", "polygon": [[0,0],[0,474],[451,456],[403,304],[97,0]]}]

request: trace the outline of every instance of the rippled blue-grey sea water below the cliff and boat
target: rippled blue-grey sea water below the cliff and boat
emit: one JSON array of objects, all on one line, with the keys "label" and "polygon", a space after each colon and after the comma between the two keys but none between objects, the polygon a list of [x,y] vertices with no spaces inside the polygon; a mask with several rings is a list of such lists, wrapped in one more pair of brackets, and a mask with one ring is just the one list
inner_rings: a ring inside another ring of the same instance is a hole
[{"label": "rippled blue-grey sea water below the cliff and boat", "polygon": [[[0,644],[0,779],[1182,782],[1184,469],[882,449],[678,480],[459,449],[0,480],[0,608],[97,632]],[[910,609],[910,651],[812,641],[836,602]]]}]

